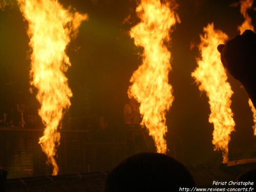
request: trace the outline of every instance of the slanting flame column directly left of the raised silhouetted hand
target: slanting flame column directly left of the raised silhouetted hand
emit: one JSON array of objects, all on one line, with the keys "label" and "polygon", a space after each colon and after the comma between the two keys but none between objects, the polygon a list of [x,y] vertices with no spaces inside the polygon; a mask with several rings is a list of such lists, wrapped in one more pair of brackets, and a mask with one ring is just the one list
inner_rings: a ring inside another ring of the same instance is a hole
[{"label": "slanting flame column directly left of the raised silhouetted hand", "polygon": [[224,44],[228,36],[220,30],[214,30],[213,23],[208,24],[204,32],[204,35],[200,35],[201,44],[199,45],[202,59],[197,59],[198,68],[191,75],[196,79],[200,91],[205,91],[209,98],[211,110],[209,122],[214,124],[212,143],[215,145],[215,150],[222,151],[223,162],[226,163],[229,135],[235,125],[230,109],[230,97],[233,92],[226,81],[227,75],[217,46]]}]

